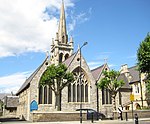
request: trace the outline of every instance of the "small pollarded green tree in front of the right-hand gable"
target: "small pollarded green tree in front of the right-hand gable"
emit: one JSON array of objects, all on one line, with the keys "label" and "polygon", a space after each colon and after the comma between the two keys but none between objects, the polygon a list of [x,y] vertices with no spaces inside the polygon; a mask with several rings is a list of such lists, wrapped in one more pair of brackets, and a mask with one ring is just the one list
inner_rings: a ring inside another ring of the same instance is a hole
[{"label": "small pollarded green tree in front of the right-hand gable", "polygon": [[103,71],[103,78],[98,83],[98,88],[108,89],[111,94],[112,102],[113,102],[113,109],[116,110],[116,102],[115,98],[117,95],[118,90],[124,85],[123,80],[118,80],[120,76],[120,72],[111,70],[111,71]]}]

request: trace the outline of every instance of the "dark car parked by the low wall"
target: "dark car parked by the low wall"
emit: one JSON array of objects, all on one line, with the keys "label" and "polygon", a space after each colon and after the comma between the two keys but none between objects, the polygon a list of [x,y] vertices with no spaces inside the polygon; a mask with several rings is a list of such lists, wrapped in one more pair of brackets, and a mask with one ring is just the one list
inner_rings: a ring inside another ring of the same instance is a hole
[{"label": "dark car parked by the low wall", "polygon": [[105,115],[103,113],[97,112],[94,109],[77,109],[76,111],[80,111],[80,110],[87,112],[87,120],[91,120],[92,116],[94,120],[105,118]]}]

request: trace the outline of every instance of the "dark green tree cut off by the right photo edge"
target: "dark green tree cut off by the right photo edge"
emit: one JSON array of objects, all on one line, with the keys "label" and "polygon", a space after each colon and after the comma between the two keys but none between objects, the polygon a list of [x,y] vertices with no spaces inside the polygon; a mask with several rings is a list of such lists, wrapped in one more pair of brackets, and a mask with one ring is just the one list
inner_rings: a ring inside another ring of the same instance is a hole
[{"label": "dark green tree cut off by the right photo edge", "polygon": [[147,91],[150,93],[150,33],[148,33],[144,41],[140,43],[137,50],[137,61],[140,73],[147,74]]}]

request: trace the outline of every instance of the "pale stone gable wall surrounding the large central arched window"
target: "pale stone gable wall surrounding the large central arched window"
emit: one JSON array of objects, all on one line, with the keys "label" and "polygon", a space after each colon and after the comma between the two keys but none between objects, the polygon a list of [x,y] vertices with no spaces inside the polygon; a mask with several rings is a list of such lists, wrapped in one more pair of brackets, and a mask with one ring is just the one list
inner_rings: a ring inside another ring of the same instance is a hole
[{"label": "pale stone gable wall surrounding the large central arched window", "polygon": [[[75,58],[73,59],[72,63],[68,67],[68,71],[73,72],[77,67],[80,66],[80,62],[78,61],[78,58],[80,58],[80,52],[77,53]],[[96,98],[96,92],[97,88],[95,85],[95,79],[91,73],[91,70],[89,69],[86,60],[81,55],[81,62],[82,62],[82,69],[84,73],[87,75],[87,80],[89,83],[88,87],[88,102],[82,102],[83,108],[92,108],[97,109],[97,98]],[[75,111],[76,109],[79,109],[80,103],[79,102],[70,102],[68,103],[68,88],[65,87],[62,91],[62,111]]]}]

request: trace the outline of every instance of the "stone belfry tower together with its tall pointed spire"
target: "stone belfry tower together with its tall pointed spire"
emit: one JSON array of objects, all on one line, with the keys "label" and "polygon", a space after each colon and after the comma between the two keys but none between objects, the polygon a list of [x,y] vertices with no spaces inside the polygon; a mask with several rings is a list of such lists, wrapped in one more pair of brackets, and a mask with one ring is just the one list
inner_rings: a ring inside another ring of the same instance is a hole
[{"label": "stone belfry tower together with its tall pointed spire", "polygon": [[65,61],[68,57],[70,57],[73,54],[73,50],[74,50],[73,38],[71,37],[70,42],[68,41],[64,1],[62,0],[58,32],[56,32],[56,38],[55,40],[52,40],[51,45],[50,63],[58,65],[59,63]]}]

